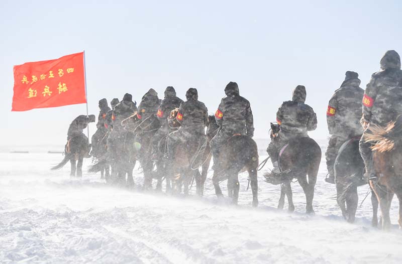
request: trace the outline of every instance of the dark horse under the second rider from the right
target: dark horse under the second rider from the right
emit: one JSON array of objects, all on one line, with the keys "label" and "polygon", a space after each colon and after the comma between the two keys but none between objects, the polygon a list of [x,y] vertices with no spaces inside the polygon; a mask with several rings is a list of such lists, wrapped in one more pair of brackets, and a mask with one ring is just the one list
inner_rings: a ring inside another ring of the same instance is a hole
[{"label": "dark horse under the second rider from the right", "polygon": [[[363,179],[364,163],[359,153],[360,138],[361,136],[357,136],[347,140],[339,149],[334,164],[337,203],[342,216],[350,223],[355,220],[359,200],[357,187],[367,184]],[[371,190],[371,204],[372,225],[377,226],[378,201],[373,190]]]}]

